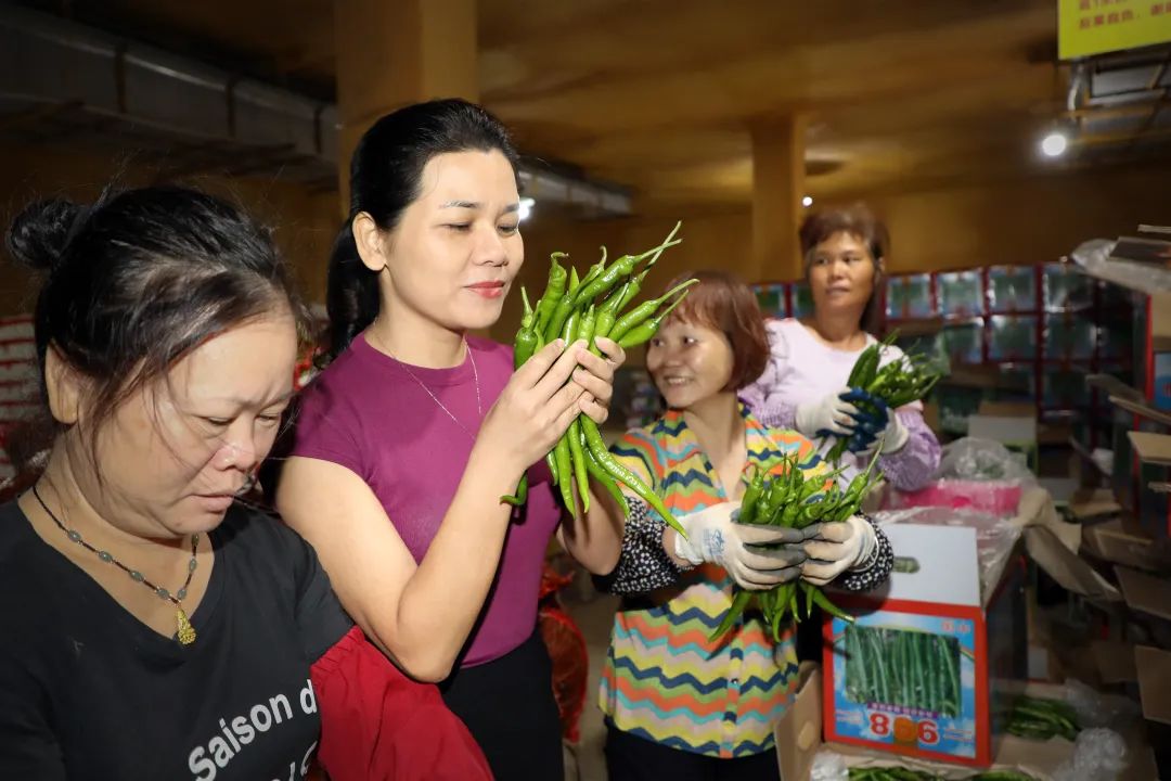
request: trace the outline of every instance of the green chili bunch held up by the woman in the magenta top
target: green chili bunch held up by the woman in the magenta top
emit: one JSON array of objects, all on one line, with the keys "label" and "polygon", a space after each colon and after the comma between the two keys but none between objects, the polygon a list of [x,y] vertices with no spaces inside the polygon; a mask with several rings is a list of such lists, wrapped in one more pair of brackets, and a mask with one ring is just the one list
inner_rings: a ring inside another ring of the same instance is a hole
[{"label": "green chili bunch held up by the woman in the magenta top", "polygon": [[[523,314],[520,330],[513,342],[514,364],[520,368],[542,347],[562,338],[566,344],[584,341],[595,355],[601,355],[596,340],[608,337],[623,349],[638,347],[658,333],[659,326],[679,306],[687,288],[698,280],[687,280],[657,299],[628,308],[642,289],[643,280],[659,255],[667,247],[680,242],[674,235],[682,224],[657,247],[638,255],[623,255],[607,265],[605,247],[602,259],[590,266],[583,279],[577,269],[561,265],[564,253],[553,253],[549,278],[545,294],[533,307],[527,292],[521,288]],[[573,486],[582,498],[582,506],[589,511],[589,478],[593,477],[614,496],[623,512],[629,512],[626,500],[618,489],[619,482],[649,503],[667,523],[683,533],[683,527],[667,512],[663,501],[630,470],[610,454],[602,433],[588,416],[578,415],[562,436],[557,445],[546,457],[553,472],[553,482],[559,488],[561,500],[570,512],[576,512]],[[521,478],[516,493],[501,496],[501,501],[522,505],[528,495],[528,480]]]}]

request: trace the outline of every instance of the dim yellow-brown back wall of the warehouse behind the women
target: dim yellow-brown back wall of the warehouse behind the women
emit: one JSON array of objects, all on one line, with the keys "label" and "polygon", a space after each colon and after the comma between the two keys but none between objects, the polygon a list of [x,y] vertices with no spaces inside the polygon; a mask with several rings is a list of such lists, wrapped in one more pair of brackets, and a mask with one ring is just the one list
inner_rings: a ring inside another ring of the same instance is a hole
[{"label": "dim yellow-brown back wall of the warehouse behind the women", "polygon": [[[158,176],[155,167],[81,152],[0,145],[0,218],[7,226],[28,200],[52,194],[93,198],[118,173],[128,184]],[[1049,176],[972,187],[882,194],[869,203],[889,222],[892,272],[958,268],[981,263],[1032,263],[1068,253],[1090,237],[1117,237],[1139,221],[1171,220],[1165,211],[1167,171],[1107,171]],[[294,184],[260,179],[196,179],[200,186],[235,197],[276,227],[311,301],[324,300],[326,259],[337,228],[337,196],[310,193]],[[683,245],[660,261],[656,285],[693,268],[748,268],[752,224],[747,208],[679,210],[634,219],[582,222],[537,211],[523,228],[527,263],[521,282],[534,294],[543,287],[553,251],[569,252],[584,267],[607,245],[611,256],[657,244],[683,219]],[[653,286],[652,286],[653,287]],[[0,316],[30,308],[27,276],[0,263]],[[519,318],[519,296],[509,296],[495,335],[508,338]]]}]

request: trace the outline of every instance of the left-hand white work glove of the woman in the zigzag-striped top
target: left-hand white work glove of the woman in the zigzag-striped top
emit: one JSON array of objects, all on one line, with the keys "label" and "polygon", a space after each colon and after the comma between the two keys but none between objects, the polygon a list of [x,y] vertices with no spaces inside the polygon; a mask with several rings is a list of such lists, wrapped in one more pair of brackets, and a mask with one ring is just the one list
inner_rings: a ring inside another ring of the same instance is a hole
[{"label": "left-hand white work glove of the woman in the zigzag-striped top", "polygon": [[[739,502],[721,502],[698,513],[677,515],[687,539],[676,535],[674,555],[697,566],[719,564],[737,585],[748,590],[771,589],[797,577],[806,560],[800,546],[804,532],[737,523],[734,516],[739,512]],[[793,547],[760,547],[782,544]]]}]

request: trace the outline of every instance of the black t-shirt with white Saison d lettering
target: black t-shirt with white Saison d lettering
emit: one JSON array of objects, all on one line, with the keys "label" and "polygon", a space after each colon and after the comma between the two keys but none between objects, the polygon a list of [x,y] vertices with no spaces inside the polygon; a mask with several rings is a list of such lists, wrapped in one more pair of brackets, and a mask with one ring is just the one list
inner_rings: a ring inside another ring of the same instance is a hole
[{"label": "black t-shirt with white Saison d lettering", "polygon": [[208,536],[184,646],[0,506],[0,777],[304,777],[320,734],[309,667],[350,619],[279,521],[235,505]]}]

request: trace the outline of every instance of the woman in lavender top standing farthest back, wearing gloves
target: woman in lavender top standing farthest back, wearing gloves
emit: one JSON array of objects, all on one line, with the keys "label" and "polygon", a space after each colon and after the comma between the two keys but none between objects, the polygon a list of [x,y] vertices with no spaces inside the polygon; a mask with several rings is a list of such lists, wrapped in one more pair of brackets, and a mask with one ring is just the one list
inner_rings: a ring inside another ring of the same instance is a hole
[{"label": "woman in lavender top standing farthest back, wearing gloves", "polygon": [[[879,306],[886,226],[858,205],[809,215],[800,235],[813,316],[767,324],[768,365],[741,398],[765,425],[814,439],[826,431],[849,437],[847,458],[855,464],[878,451],[878,467],[891,485],[922,488],[939,466],[939,440],[923,420],[923,405],[886,410],[879,402],[878,425],[865,431],[851,417],[856,407],[843,398],[857,398],[858,389],[851,392],[847,379],[858,355],[875,342],[867,329]],[[882,364],[902,355],[890,347]]]}]

